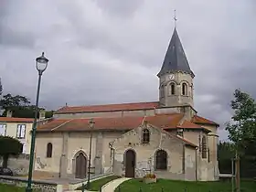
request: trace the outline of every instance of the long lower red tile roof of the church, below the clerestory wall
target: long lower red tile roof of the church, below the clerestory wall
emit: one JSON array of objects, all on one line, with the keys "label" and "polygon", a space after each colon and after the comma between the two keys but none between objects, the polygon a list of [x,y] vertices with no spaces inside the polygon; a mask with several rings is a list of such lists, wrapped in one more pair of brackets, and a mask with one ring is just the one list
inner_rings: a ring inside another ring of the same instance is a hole
[{"label": "long lower red tile roof of the church, below the clerestory wall", "polygon": [[[141,125],[144,121],[155,126],[169,129],[176,128],[183,114],[165,114],[148,117],[97,117],[94,118],[94,130],[131,130]],[[86,131],[90,119],[55,119],[49,123],[38,126],[37,131]]]}]

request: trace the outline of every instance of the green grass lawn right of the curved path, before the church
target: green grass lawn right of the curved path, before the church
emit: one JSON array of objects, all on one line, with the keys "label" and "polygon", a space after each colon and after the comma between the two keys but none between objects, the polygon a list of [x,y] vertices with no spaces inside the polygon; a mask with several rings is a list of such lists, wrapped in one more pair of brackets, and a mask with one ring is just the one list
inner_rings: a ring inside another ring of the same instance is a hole
[{"label": "green grass lawn right of the curved path, before the church", "polygon": [[[142,179],[131,179],[120,185],[120,192],[231,192],[231,182],[189,182],[157,179],[155,184],[145,184]],[[162,191],[163,187],[163,191]],[[185,190],[187,188],[187,190]],[[256,182],[241,181],[240,192],[256,191]],[[115,189],[119,192],[119,188]]]}]

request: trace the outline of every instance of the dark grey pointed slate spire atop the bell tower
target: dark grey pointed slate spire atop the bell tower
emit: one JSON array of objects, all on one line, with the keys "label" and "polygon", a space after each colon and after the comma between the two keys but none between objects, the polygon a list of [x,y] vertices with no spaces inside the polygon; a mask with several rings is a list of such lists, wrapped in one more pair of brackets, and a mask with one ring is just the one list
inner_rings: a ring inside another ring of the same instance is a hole
[{"label": "dark grey pointed slate spire atop the bell tower", "polygon": [[181,41],[177,35],[176,27],[173,33],[173,37],[169,43],[169,47],[165,54],[165,60],[162,65],[162,69],[157,74],[158,77],[165,73],[182,71],[194,78],[195,75],[193,71],[190,69],[187,57],[185,55],[184,49],[182,47]]}]

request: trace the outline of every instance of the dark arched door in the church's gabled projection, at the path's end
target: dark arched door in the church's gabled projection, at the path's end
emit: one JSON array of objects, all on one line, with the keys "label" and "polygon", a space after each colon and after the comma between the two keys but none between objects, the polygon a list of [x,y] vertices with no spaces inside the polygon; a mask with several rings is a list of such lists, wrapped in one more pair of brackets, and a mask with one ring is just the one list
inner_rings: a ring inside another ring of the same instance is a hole
[{"label": "dark arched door in the church's gabled projection, at the path's end", "polygon": [[135,176],[135,157],[136,154],[133,150],[129,149],[125,153],[125,177]]}]

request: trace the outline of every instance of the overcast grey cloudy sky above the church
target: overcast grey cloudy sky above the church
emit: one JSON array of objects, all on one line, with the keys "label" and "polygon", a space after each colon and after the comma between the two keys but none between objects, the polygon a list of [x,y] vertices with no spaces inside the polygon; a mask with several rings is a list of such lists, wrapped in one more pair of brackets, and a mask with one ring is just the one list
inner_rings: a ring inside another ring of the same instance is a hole
[{"label": "overcast grey cloudy sky above the church", "polygon": [[[35,58],[50,60],[40,105],[157,101],[165,50],[177,30],[195,77],[199,114],[229,121],[236,88],[256,96],[253,0],[1,0],[5,93],[34,101]],[[219,128],[220,138],[227,133]]]}]

